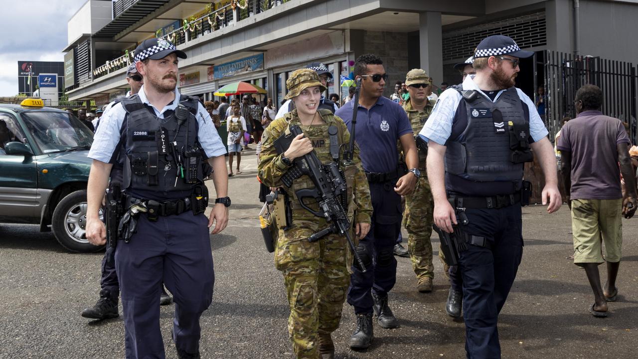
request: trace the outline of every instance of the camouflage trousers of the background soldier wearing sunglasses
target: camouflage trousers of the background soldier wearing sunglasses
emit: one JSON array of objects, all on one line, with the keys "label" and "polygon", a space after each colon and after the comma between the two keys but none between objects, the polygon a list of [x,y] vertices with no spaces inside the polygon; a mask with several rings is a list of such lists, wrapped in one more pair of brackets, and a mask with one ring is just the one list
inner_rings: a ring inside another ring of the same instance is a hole
[{"label": "camouflage trousers of the background soldier wearing sunglasses", "polygon": [[405,210],[403,211],[403,225],[408,231],[408,251],[417,279],[434,278],[432,242],[430,240],[433,210],[434,200],[424,170],[421,171],[417,188],[411,195],[405,197]]}]

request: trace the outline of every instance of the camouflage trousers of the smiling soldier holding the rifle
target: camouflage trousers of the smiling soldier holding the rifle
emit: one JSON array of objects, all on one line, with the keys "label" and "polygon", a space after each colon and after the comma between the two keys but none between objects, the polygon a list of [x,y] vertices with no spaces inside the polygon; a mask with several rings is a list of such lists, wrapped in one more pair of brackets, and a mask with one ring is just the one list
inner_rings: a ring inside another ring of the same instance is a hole
[{"label": "camouflage trousers of the smiling soldier holding the rifle", "polygon": [[297,358],[316,359],[318,333],[339,328],[350,285],[350,256],[345,238],[329,235],[316,242],[308,228],[279,232],[275,266],[283,272],[290,317],[288,333]]}]

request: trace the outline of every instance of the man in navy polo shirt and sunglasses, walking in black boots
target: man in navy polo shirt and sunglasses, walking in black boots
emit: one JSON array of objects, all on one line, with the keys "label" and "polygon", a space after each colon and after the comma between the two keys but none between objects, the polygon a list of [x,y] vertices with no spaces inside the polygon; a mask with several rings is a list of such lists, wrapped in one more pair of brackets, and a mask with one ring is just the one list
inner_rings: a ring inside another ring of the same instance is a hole
[{"label": "man in navy polo shirt and sunglasses, walking in black boots", "polygon": [[[388,305],[388,293],[396,282],[396,259],[392,249],[401,230],[401,195],[412,193],[420,176],[419,155],[412,126],[403,108],[383,97],[387,74],[383,61],[373,54],[360,56],[354,66],[355,80],[361,79],[355,140],[370,185],[373,217],[366,238],[357,252],[367,268],[362,273],[352,266],[348,303],[355,307],[357,330],[350,348],[367,348],[373,339],[372,312],[382,328],[396,328],[397,319]],[[352,133],[354,101],[337,112]],[[399,171],[397,141],[401,141],[407,174]]]}]

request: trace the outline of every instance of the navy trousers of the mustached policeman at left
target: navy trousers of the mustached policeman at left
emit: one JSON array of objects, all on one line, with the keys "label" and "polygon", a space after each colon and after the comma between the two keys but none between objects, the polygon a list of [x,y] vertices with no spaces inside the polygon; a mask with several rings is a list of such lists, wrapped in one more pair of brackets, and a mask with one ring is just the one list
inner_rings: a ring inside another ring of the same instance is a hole
[{"label": "navy trousers of the mustached policeman at left", "polygon": [[130,243],[117,243],[127,359],[165,358],[159,330],[162,280],[175,302],[175,346],[199,351],[200,317],[211,305],[214,284],[207,224],[205,215],[190,211],[157,222],[140,215]]}]

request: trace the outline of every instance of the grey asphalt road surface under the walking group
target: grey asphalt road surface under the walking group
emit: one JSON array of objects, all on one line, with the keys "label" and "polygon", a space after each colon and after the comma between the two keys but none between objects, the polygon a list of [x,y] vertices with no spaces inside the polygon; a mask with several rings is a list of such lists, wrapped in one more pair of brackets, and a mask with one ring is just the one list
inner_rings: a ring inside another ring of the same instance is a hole
[{"label": "grey asphalt road surface under the walking group", "polygon": [[[258,225],[254,151],[244,152],[241,169],[229,179],[228,227],[211,236],[216,282],[201,321],[202,358],[293,358],[283,277]],[[207,184],[212,190],[212,181]],[[503,358],[636,358],[638,220],[623,220],[619,299],[604,319],[588,313],[593,294],[586,275],[566,259],[572,253],[567,206],[552,215],[543,206],[526,207],[523,224],[523,263],[499,318]],[[464,358],[464,325],[445,314],[449,285],[436,257],[438,238],[432,241],[434,291],[418,293],[410,259],[397,257],[390,306],[401,327],[375,324],[371,348],[352,351],[347,343],[355,318],[346,303],[333,334],[337,358]],[[66,252],[35,225],[0,225],[0,358],[123,358],[121,317],[80,317],[98,299],[102,256]],[[173,311],[174,305],[161,307],[167,358],[177,357]]]}]

